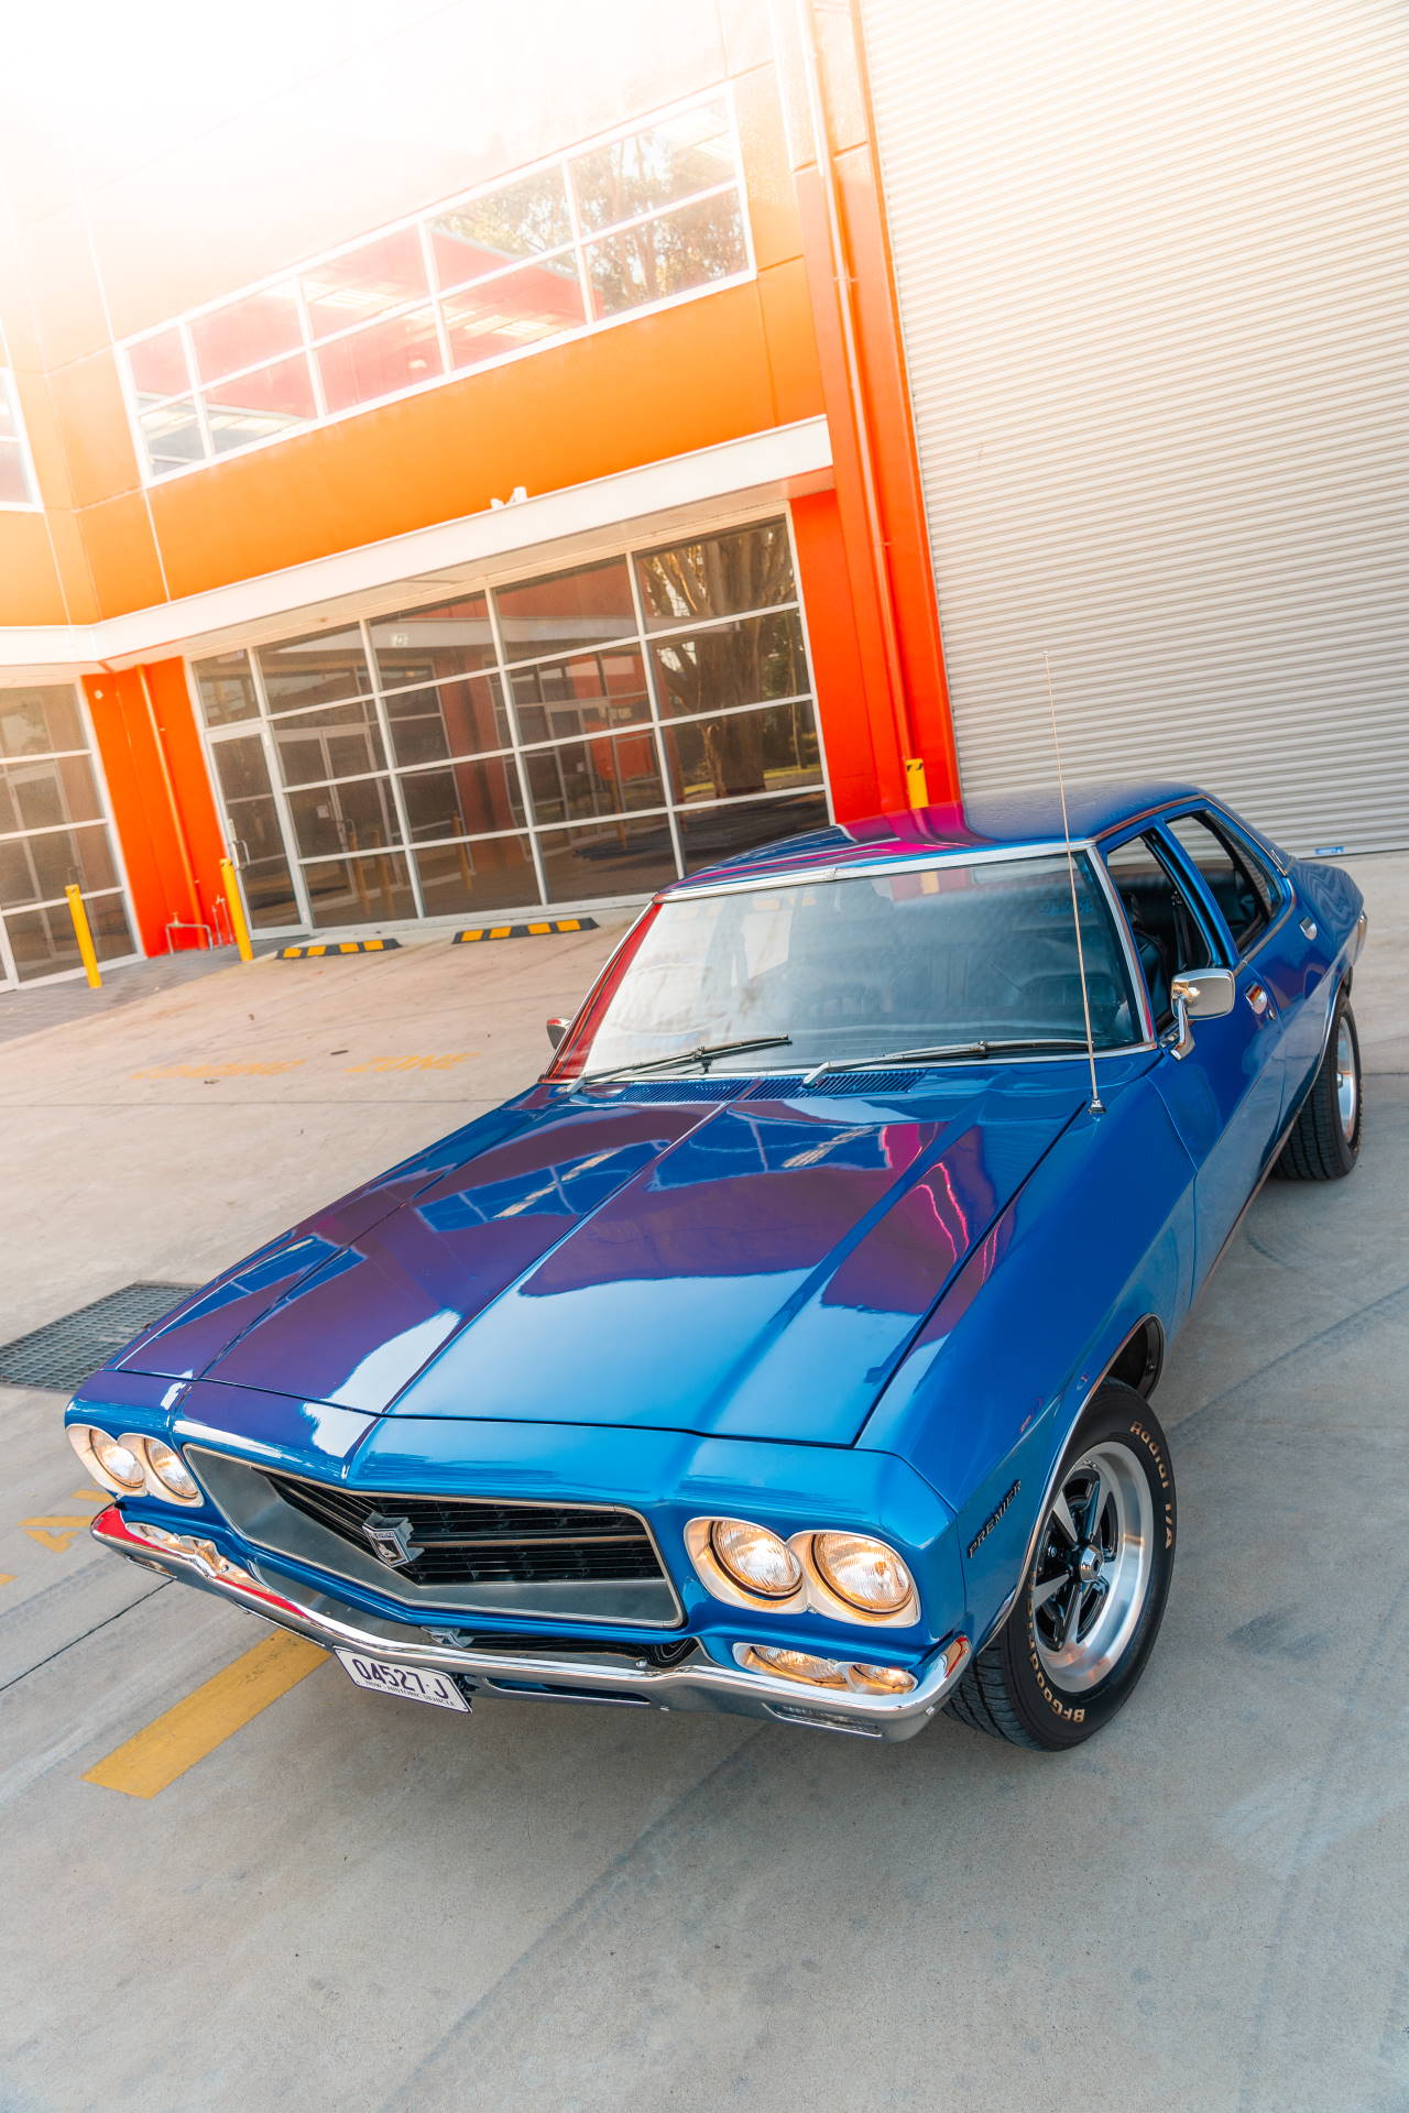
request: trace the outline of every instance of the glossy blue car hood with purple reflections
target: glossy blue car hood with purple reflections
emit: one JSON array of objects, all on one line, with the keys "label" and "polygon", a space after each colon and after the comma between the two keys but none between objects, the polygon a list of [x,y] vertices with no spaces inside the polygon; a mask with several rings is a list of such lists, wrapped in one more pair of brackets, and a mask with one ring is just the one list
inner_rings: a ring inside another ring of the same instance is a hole
[{"label": "glossy blue car hood with purple reflections", "polygon": [[1082,1099],[1065,1065],[891,1099],[539,1088],[275,1240],[118,1367],[372,1416],[851,1443]]}]

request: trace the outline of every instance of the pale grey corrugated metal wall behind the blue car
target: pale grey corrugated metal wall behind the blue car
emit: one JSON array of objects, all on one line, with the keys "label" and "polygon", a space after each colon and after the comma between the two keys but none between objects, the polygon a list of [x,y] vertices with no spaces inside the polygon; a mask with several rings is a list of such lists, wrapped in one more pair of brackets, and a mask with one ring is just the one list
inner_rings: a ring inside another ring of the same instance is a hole
[{"label": "pale grey corrugated metal wall behind the blue car", "polygon": [[970,792],[1409,843],[1409,6],[862,0]]}]

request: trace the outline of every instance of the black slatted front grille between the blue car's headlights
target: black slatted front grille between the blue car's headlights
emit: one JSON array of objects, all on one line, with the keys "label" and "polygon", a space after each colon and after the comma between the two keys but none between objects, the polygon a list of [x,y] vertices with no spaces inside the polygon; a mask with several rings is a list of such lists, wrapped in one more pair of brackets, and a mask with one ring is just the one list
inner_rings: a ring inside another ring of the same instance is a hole
[{"label": "black slatted front grille between the blue car's headlights", "polygon": [[393,1526],[410,1557],[387,1568],[412,1585],[617,1585],[661,1576],[655,1545],[630,1511],[376,1496],[270,1473],[264,1481],[363,1555],[376,1553],[368,1523]]}]

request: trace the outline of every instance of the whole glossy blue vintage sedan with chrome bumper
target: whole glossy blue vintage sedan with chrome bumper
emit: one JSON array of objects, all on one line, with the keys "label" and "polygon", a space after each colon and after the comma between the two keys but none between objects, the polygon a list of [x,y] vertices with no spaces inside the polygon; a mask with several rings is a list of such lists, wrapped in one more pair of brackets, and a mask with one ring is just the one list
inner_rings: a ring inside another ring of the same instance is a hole
[{"label": "whole glossy blue vintage sedan with chrome bumper", "polygon": [[697,873],[534,1086],[87,1382],[93,1532],[444,1709],[1075,1745],[1170,1587],[1168,1344],[1356,1162],[1363,940],[1179,784]]}]

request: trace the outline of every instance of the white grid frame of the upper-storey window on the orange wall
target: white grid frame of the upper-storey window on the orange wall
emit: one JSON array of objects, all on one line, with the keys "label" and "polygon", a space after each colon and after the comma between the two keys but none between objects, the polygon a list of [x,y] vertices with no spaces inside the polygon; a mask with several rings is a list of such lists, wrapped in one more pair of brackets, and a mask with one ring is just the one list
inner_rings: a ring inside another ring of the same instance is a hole
[{"label": "white grid frame of the upper-storey window on the orange wall", "polygon": [[[594,152],[596,148],[613,146],[617,139],[630,139],[636,133],[651,131],[655,125],[665,125],[665,123],[670,123],[676,116],[687,116],[691,110],[703,110],[710,104],[725,104],[725,116],[727,116],[727,127],[729,127],[729,144],[731,144],[731,150],[733,150],[733,175],[729,175],[720,184],[708,184],[703,190],[693,190],[693,192],[689,192],[682,199],[672,199],[670,205],[663,205],[657,211],[632,213],[625,220],[613,222],[606,228],[589,228],[589,230],[585,230],[585,228],[579,226],[577,199],[572,194],[572,180],[570,180],[570,173],[568,173],[568,165],[572,161],[577,161],[583,154]],[[520,258],[520,260],[515,260],[511,264],[501,266],[499,270],[484,273],[482,277],[471,279],[471,281],[463,281],[461,285],[452,287],[450,292],[442,292],[442,287],[437,285],[437,279],[435,279],[433,262],[431,262],[431,232],[429,232],[431,230],[431,222],[435,218],[439,218],[442,213],[454,211],[458,205],[469,205],[475,199],[488,197],[490,192],[496,192],[496,190],[505,190],[511,184],[524,182],[524,180],[528,180],[532,175],[539,175],[539,173],[547,171],[547,169],[560,169],[562,171],[564,194],[566,194],[566,201],[568,201],[568,218],[570,218],[570,224],[572,224],[572,235],[570,235],[568,243],[560,245],[558,249],[543,251],[543,256]],[[741,230],[744,230],[744,266],[741,266],[741,270],[729,273],[727,277],[720,277],[720,279],[706,279],[703,285],[687,287],[680,294],[668,294],[661,300],[642,302],[636,308],[621,308],[617,315],[604,315],[600,319],[591,317],[591,313],[589,313],[589,308],[591,308],[591,283],[589,283],[589,277],[587,277],[587,249],[598,247],[600,243],[606,243],[606,241],[610,241],[617,235],[625,235],[632,228],[646,226],[646,224],[651,224],[655,220],[668,220],[672,213],[687,211],[691,205],[703,205],[710,199],[718,199],[718,197],[727,197],[727,194],[737,197],[737,205],[739,205],[739,224],[741,224]],[[346,330],[325,332],[321,338],[315,338],[311,321],[308,321],[308,304],[306,304],[304,294],[302,294],[302,289],[298,285],[300,273],[313,270],[319,264],[336,262],[336,258],[340,258],[340,256],[351,256],[353,251],[363,249],[372,241],[380,241],[382,237],[399,235],[403,230],[416,230],[416,235],[420,239],[420,254],[422,254],[422,258],[427,262],[429,292],[427,294],[414,294],[408,300],[395,302],[393,306],[382,308],[376,317],[368,317],[363,321],[349,323]],[[575,262],[577,262],[577,281],[579,281],[579,292],[581,292],[581,298],[583,298],[583,313],[587,315],[587,321],[568,325],[566,330],[556,332],[553,336],[534,338],[530,344],[513,347],[513,349],[509,349],[505,353],[494,353],[488,359],[477,359],[473,366],[450,368],[450,340],[448,340],[448,325],[446,325],[446,313],[444,313],[446,311],[446,302],[458,300],[463,294],[471,292],[473,287],[488,285],[494,279],[507,279],[513,273],[526,270],[526,268],[530,268],[537,262],[551,262],[553,258],[560,258],[560,256],[572,256]],[[727,287],[746,285],[756,275],[758,275],[758,264],[756,264],[756,251],[754,251],[754,230],[752,230],[752,220],[750,220],[750,211],[748,211],[748,188],[746,188],[746,182],[744,182],[744,158],[741,158],[741,152],[739,152],[739,118],[737,118],[733,82],[716,82],[712,89],[708,89],[703,93],[695,93],[695,95],[687,97],[684,101],[668,104],[668,106],[663,106],[659,110],[651,110],[646,116],[630,118],[627,123],[617,125],[617,127],[613,127],[610,131],[604,131],[604,133],[594,133],[591,137],[581,139],[575,146],[560,150],[558,154],[545,154],[539,161],[524,163],[522,167],[509,169],[509,171],[505,171],[505,173],[501,173],[501,175],[496,175],[496,177],[492,177],[492,180],[488,180],[484,184],[475,184],[469,190],[458,190],[458,192],[454,192],[454,194],[450,194],[446,199],[435,199],[431,205],[420,207],[420,211],[416,211],[416,213],[408,213],[401,220],[391,220],[391,222],[387,222],[384,226],[378,226],[378,228],[368,228],[365,232],[353,237],[351,241],[338,243],[334,249],[319,249],[315,256],[306,256],[306,258],[296,260],[294,264],[285,264],[281,270],[268,273],[264,279],[256,279],[249,285],[234,287],[232,292],[222,294],[218,300],[207,300],[199,308],[186,308],[182,315],[169,317],[163,323],[156,323],[156,325],[152,325],[148,330],[133,332],[131,336],[120,338],[116,342],[116,355],[118,355],[116,368],[118,368],[118,380],[123,385],[123,401],[127,406],[127,420],[129,420],[129,427],[131,427],[133,446],[137,450],[137,469],[139,469],[144,486],[171,484],[175,478],[188,478],[188,475],[194,475],[196,471],[203,471],[203,469],[218,469],[222,463],[237,461],[237,459],[243,459],[247,454],[256,454],[262,448],[277,448],[281,442],[296,440],[300,433],[317,433],[323,427],[342,425],[346,418],[359,418],[363,412],[378,410],[384,404],[403,404],[408,397],[427,395],[433,389],[446,389],[452,382],[463,382],[463,380],[471,378],[473,374],[490,374],[496,368],[513,366],[520,359],[532,359],[537,353],[556,351],[562,344],[575,344],[579,338],[594,338],[594,336],[598,336],[604,330],[617,330],[621,323],[636,323],[636,321],[640,321],[646,315],[661,315],[663,311],[668,311],[668,308],[680,308],[680,306],[684,306],[691,300],[703,300],[708,294],[720,294]],[[266,292],[273,292],[277,287],[285,287],[289,283],[294,285],[294,298],[296,298],[296,304],[298,304],[298,321],[300,321],[300,340],[302,342],[298,347],[292,347],[287,353],[277,353],[270,359],[258,359],[258,361],[253,361],[247,368],[234,368],[230,374],[224,374],[218,382],[201,382],[196,378],[196,359],[194,359],[194,344],[192,344],[192,338],[190,338],[190,325],[194,321],[201,321],[201,317],[205,317],[205,315],[213,315],[220,308],[230,306],[237,300],[245,300],[245,298],[249,298],[253,294],[266,294]],[[323,393],[323,378],[321,378],[321,372],[319,372],[317,353],[323,347],[327,347],[327,344],[338,344],[344,338],[355,336],[359,330],[372,330],[372,328],[376,328],[380,323],[393,323],[393,321],[397,321],[397,317],[412,315],[412,313],[416,313],[420,308],[427,308],[427,306],[429,306],[429,311],[433,315],[433,321],[435,321],[435,340],[437,340],[437,347],[439,347],[439,355],[446,361],[446,372],[444,374],[431,374],[427,380],[412,382],[406,389],[391,389],[391,391],[387,391],[387,395],[368,397],[361,404],[351,404],[346,410],[327,410],[327,399],[325,399],[325,393]],[[152,338],[163,338],[171,330],[180,330],[180,336],[182,336],[182,351],[184,351],[184,359],[186,359],[186,372],[188,372],[188,378],[190,378],[190,389],[180,389],[175,393],[156,397],[150,391],[137,389],[137,382],[135,382],[133,372],[131,372],[129,355],[131,355],[131,351],[135,347],[146,344]],[[277,433],[266,433],[262,440],[251,440],[243,448],[226,448],[224,452],[218,452],[213,448],[213,442],[211,442],[211,427],[209,427],[209,414],[207,414],[207,397],[211,395],[211,391],[228,389],[232,382],[243,380],[247,374],[260,374],[260,372],[264,372],[264,368],[279,366],[285,359],[302,359],[304,361],[306,372],[311,376],[311,385],[313,385],[313,401],[317,406],[315,416],[313,418],[292,420],[289,425],[281,427]],[[139,404],[139,397],[150,397],[150,401]],[[152,463],[150,463],[150,456],[148,456],[146,433],[142,429],[142,416],[150,414],[154,410],[165,410],[167,406],[173,406],[173,404],[192,404],[194,406],[196,425],[199,425],[199,431],[201,431],[201,442],[203,442],[203,446],[205,446],[207,452],[199,461],[194,461],[194,463],[180,463],[173,469],[154,469]]]}]

